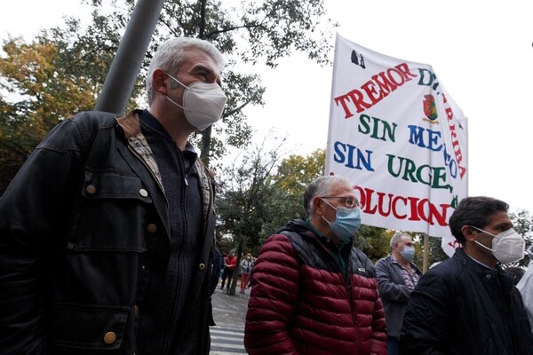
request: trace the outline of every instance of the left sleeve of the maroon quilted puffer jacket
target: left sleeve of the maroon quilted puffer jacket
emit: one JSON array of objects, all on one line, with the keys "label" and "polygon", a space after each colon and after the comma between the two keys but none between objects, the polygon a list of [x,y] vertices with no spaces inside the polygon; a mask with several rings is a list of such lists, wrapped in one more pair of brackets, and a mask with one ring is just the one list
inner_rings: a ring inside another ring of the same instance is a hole
[{"label": "left sleeve of the maroon quilted puffer jacket", "polygon": [[253,268],[244,346],[249,354],[297,354],[289,325],[298,297],[299,264],[289,239],[274,234]]}]

